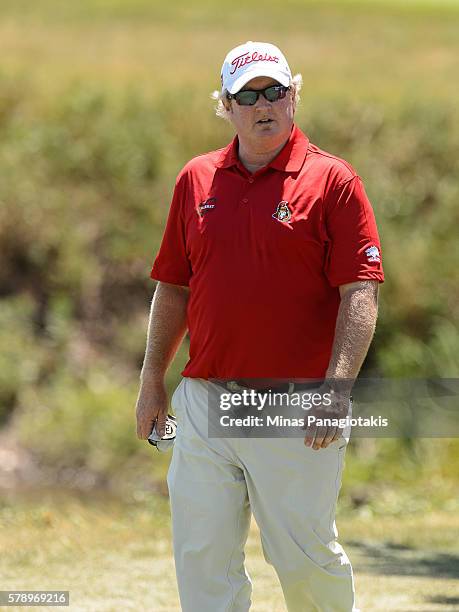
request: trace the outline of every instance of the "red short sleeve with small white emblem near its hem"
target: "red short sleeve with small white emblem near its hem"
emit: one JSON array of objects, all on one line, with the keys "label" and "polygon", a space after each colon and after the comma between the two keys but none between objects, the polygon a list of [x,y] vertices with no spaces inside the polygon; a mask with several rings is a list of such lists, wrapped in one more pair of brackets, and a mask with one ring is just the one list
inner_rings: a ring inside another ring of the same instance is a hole
[{"label": "red short sleeve with small white emblem near its hem", "polygon": [[376,220],[359,176],[327,195],[325,225],[325,275],[333,287],[359,280],[384,282]]}]

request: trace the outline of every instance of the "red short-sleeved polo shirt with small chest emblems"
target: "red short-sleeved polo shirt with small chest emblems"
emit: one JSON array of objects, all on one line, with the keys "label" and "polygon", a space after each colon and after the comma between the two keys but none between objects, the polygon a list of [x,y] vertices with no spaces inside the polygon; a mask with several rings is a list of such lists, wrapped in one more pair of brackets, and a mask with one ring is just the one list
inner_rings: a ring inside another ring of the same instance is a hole
[{"label": "red short-sleeved polo shirt with small chest emblems", "polygon": [[353,168],[294,126],[250,174],[238,139],[180,172],[151,277],[189,286],[184,376],[322,378],[339,285],[383,282],[371,205]]}]

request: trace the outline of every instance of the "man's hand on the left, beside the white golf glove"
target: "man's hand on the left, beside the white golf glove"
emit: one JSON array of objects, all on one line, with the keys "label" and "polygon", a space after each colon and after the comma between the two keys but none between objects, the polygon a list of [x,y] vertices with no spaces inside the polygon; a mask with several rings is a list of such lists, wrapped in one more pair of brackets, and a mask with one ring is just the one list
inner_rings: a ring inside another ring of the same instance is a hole
[{"label": "man's hand on the left, beside the white golf glove", "polygon": [[136,404],[137,437],[146,440],[156,423],[160,437],[164,435],[169,401],[164,381],[140,383]]}]

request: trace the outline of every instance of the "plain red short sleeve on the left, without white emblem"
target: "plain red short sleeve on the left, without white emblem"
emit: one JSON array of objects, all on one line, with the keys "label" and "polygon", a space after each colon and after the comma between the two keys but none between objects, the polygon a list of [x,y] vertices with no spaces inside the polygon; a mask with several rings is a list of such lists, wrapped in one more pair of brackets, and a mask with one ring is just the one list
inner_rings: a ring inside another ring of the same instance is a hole
[{"label": "plain red short sleeve on the left, without white emblem", "polygon": [[187,287],[191,278],[191,265],[187,255],[183,202],[185,180],[177,181],[172,197],[166,229],[150,277]]}]

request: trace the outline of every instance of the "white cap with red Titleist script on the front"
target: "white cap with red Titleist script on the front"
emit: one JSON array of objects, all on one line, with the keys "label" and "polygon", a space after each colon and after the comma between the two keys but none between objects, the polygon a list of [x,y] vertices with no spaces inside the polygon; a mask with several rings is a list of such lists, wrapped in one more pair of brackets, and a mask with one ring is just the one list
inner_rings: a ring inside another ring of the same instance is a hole
[{"label": "white cap with red Titleist script on the front", "polygon": [[287,60],[280,49],[270,43],[249,40],[232,49],[222,66],[222,91],[237,93],[250,80],[271,77],[288,87],[292,80]]}]

